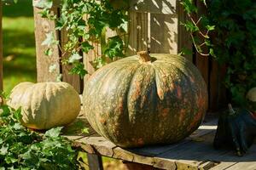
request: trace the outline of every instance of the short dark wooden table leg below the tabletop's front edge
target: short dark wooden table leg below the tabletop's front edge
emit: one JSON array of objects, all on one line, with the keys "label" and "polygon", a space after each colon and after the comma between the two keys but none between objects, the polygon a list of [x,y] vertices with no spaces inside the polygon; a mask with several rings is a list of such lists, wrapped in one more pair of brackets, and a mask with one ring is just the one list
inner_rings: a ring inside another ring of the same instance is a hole
[{"label": "short dark wooden table leg below the tabletop's front edge", "polygon": [[103,170],[102,156],[97,156],[95,154],[87,154],[87,159],[90,170]]}]

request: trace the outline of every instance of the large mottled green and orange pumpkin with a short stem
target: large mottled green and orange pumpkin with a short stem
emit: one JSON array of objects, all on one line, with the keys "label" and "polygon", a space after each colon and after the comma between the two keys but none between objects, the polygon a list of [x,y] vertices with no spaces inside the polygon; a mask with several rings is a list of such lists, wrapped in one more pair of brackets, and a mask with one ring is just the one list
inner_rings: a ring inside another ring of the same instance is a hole
[{"label": "large mottled green and orange pumpkin with a short stem", "polygon": [[90,125],[121,147],[170,144],[199,127],[207,111],[207,86],[195,66],[172,54],[119,59],[84,85]]}]

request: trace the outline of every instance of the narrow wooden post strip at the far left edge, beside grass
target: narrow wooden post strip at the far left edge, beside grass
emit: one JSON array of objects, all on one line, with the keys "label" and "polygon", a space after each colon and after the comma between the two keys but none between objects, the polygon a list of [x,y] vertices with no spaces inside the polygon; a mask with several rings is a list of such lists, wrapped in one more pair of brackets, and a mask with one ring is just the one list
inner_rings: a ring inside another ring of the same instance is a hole
[{"label": "narrow wooden post strip at the far left edge, beside grass", "polygon": [[3,30],[2,30],[2,16],[3,7],[0,2],[0,91],[3,91]]}]

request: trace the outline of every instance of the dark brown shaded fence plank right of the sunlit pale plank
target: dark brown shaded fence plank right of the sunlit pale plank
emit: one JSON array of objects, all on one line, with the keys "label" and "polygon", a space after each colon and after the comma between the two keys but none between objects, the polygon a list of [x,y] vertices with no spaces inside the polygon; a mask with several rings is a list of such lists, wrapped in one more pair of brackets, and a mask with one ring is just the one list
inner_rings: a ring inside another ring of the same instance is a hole
[{"label": "dark brown shaded fence plank right of the sunlit pale plank", "polygon": [[189,20],[188,18],[188,15],[184,13],[183,6],[177,4],[177,53],[181,53],[183,50],[189,50],[191,53],[184,54],[183,56],[193,62],[193,43],[190,40],[189,31],[186,31],[185,26],[181,25],[186,20]]}]

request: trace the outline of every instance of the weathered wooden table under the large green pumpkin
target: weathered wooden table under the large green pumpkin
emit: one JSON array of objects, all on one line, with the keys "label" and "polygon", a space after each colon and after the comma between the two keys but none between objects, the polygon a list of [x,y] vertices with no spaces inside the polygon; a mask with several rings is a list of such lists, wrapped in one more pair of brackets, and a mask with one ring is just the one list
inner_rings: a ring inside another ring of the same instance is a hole
[{"label": "weathered wooden table under the large green pumpkin", "polygon": [[[90,133],[87,135],[81,133],[80,129],[84,126],[90,128]],[[217,119],[206,120],[195,133],[177,144],[154,145],[129,150],[124,150],[99,136],[83,116],[79,116],[77,122],[67,127],[64,133],[68,139],[73,140],[75,146],[88,153],[90,169],[102,169],[101,156],[108,156],[134,162],[147,169],[155,167],[168,170],[255,170],[256,144],[253,144],[246,156],[241,157],[235,156],[232,150],[214,150],[212,141],[216,128]]]}]

